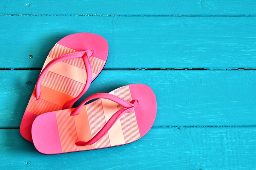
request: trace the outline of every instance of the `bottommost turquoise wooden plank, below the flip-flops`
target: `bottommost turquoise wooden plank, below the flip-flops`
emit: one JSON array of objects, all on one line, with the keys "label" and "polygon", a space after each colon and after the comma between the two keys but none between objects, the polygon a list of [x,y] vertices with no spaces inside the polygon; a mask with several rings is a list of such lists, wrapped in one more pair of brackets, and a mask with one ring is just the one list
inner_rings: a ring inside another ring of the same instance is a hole
[{"label": "bottommost turquoise wooden plank, below the flip-flops", "polygon": [[1,169],[256,168],[256,127],[151,128],[131,144],[60,155],[38,153],[18,129],[0,134]]}]

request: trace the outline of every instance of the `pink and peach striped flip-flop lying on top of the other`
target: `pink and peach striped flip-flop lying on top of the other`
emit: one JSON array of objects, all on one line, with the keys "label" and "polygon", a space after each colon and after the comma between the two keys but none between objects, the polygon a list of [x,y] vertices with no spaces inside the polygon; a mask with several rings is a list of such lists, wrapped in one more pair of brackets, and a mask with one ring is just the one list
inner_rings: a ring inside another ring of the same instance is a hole
[{"label": "pink and peach striped flip-flop lying on top of the other", "polygon": [[156,111],[151,88],[129,84],[91,95],[77,108],[39,115],[32,125],[33,142],[47,155],[128,144],[150,130]]}]

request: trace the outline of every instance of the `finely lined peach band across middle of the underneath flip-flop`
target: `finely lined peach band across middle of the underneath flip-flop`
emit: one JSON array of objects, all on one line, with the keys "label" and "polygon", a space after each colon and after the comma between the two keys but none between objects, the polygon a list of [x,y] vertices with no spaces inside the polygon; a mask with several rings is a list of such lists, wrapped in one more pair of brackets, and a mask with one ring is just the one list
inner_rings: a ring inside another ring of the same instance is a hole
[{"label": "finely lined peach band across middle of the underneath flip-flop", "polygon": [[[85,84],[83,83],[53,73],[51,71],[47,71],[45,73],[41,84],[74,97],[78,96],[82,89],[85,87]],[[72,86],[72,88],[70,88],[70,86]]]}]

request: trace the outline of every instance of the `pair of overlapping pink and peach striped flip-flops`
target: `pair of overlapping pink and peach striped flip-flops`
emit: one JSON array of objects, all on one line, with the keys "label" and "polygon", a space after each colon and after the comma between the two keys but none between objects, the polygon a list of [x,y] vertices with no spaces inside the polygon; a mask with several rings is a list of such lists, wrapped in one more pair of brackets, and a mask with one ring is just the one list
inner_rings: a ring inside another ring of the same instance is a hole
[{"label": "pair of overlapping pink and peach striped flip-flops", "polygon": [[100,74],[107,55],[106,40],[92,33],[71,34],[54,45],[20,126],[37,151],[58,154],[124,145],[150,130],[156,97],[145,84],[97,93],[72,108]]}]

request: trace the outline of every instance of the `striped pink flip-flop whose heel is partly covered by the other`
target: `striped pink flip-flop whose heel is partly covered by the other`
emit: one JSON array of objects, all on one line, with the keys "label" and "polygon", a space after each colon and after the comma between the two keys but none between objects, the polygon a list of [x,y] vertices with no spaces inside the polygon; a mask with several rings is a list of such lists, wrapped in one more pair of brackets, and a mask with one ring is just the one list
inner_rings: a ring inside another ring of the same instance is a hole
[{"label": "striped pink flip-flop whose heel is partly covered by the other", "polygon": [[92,33],[76,33],[59,40],[50,51],[23,115],[20,132],[32,142],[34,119],[46,112],[71,108],[103,69],[106,40]]}]

